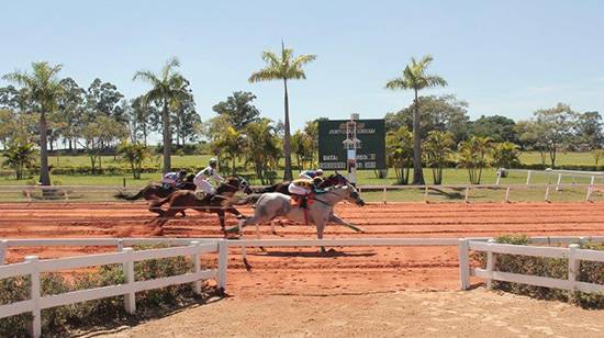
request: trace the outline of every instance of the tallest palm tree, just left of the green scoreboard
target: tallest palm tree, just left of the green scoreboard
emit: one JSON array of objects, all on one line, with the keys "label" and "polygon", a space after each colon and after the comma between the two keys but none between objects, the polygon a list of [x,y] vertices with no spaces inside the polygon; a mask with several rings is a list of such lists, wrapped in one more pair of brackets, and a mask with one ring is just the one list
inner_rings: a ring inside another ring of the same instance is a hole
[{"label": "tallest palm tree, just left of the green scoreboard", "polygon": [[283,42],[281,42],[281,56],[276,53],[266,50],[262,53],[262,60],[267,64],[265,68],[255,71],[249,77],[249,82],[259,81],[272,81],[282,80],[284,88],[284,101],[286,101],[286,135],[283,138],[283,150],[286,155],[286,172],[283,174],[284,180],[291,180],[293,178],[291,173],[291,134],[290,134],[290,106],[288,100],[288,80],[304,80],[306,75],[302,69],[307,63],[316,59],[316,55],[305,54],[298,57],[293,56],[293,49],[286,48]]}]

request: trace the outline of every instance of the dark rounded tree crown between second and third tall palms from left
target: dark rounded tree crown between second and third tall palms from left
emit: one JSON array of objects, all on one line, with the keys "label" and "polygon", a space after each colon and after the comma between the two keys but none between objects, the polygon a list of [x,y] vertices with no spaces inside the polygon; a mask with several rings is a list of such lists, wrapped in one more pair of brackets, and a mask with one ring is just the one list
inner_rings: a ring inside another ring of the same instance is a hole
[{"label": "dark rounded tree crown between second and third tall palms from left", "polygon": [[226,101],[216,103],[212,110],[219,115],[226,116],[228,123],[237,131],[248,123],[258,121],[260,111],[251,103],[256,95],[248,91],[235,91]]}]

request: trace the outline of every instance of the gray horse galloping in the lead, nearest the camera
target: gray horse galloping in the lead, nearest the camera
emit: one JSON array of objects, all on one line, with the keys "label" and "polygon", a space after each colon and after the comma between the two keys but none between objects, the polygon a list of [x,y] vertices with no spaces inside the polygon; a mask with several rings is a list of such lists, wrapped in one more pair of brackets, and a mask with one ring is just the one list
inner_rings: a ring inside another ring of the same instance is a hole
[{"label": "gray horse galloping in the lead, nearest the camera", "polygon": [[[260,223],[269,222],[279,216],[302,224],[306,221],[307,223],[314,224],[316,226],[316,238],[318,239],[323,239],[325,225],[329,222],[346,226],[355,232],[362,232],[361,228],[334,215],[334,206],[344,200],[359,206],[365,205],[365,201],[362,201],[355,187],[350,184],[332,187],[326,189],[326,192],[316,194],[313,198],[314,202],[310,204],[306,214],[304,213],[304,210],[292,205],[291,199],[291,196],[279,192],[264,193],[256,202],[254,216],[242,219],[239,225],[230,228],[227,232],[241,232],[245,226],[258,226]],[[243,205],[248,203],[249,201],[247,198],[236,198],[228,202],[231,205]],[[323,247],[321,249],[322,251],[324,250]]]}]

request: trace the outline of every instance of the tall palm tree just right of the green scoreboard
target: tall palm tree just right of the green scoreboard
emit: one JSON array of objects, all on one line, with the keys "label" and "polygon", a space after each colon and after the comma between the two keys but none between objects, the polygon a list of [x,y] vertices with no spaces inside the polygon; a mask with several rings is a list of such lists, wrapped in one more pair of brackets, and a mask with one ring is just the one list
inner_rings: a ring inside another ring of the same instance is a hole
[{"label": "tall palm tree just right of the green scoreboard", "polygon": [[439,76],[426,74],[426,69],[433,58],[429,55],[424,56],[420,61],[411,58],[411,64],[403,70],[403,76],[398,77],[385,83],[388,89],[412,89],[415,92],[413,105],[413,184],[424,184],[424,172],[422,171],[422,131],[420,116],[420,101],[417,93],[420,90],[433,87],[445,87],[447,81]]}]

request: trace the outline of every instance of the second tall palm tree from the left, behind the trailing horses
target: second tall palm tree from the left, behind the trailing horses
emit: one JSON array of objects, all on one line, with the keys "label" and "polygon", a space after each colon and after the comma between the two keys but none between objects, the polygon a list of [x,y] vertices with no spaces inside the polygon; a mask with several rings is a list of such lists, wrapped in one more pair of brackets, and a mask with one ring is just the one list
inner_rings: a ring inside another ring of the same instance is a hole
[{"label": "second tall palm tree from the left, behind the trailing horses", "polygon": [[163,103],[161,123],[164,137],[164,172],[171,171],[171,146],[172,135],[170,131],[170,106],[178,105],[180,101],[188,99],[187,80],[176,70],[180,67],[180,63],[176,57],[170,58],[161,72],[154,74],[148,70],[139,70],[134,75],[133,80],[143,80],[152,84],[152,89],[144,95],[145,103],[149,104],[155,101]]}]

